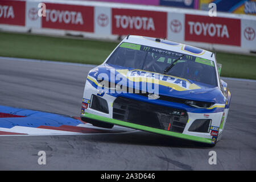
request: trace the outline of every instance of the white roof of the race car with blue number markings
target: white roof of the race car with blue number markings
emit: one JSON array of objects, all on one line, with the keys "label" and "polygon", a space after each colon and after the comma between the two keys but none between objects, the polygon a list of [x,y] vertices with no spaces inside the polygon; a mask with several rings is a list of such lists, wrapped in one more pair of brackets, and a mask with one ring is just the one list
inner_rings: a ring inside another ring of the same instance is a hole
[{"label": "white roof of the race car with blue number markings", "polygon": [[[158,42],[160,40],[160,42]],[[157,47],[162,49],[167,49],[169,51],[175,51],[179,53],[184,53],[187,55],[192,55],[196,57],[201,57],[204,59],[212,60],[215,62],[214,54],[205,49],[189,46],[187,44],[172,42],[170,40],[150,38],[146,36],[129,35],[122,42],[142,44],[144,46]]]}]

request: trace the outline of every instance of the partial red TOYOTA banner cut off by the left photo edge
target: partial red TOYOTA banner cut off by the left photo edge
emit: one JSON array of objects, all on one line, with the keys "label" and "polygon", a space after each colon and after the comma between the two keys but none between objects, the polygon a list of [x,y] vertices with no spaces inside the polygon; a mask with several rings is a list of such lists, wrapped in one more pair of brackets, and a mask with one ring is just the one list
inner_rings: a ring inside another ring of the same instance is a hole
[{"label": "partial red TOYOTA banner cut off by the left photo edge", "polygon": [[0,1],[0,24],[25,26],[24,1]]}]

